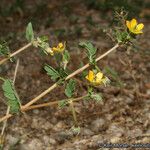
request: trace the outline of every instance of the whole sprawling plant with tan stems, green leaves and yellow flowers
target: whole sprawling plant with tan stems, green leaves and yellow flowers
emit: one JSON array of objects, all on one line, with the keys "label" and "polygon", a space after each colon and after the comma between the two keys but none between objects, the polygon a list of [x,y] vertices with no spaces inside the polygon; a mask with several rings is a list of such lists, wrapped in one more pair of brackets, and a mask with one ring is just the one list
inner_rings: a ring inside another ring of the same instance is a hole
[{"label": "whole sprawling plant with tan stems, green leaves and yellow flowers", "polygon": [[[50,59],[51,57],[54,57],[55,61],[57,62],[57,67],[55,68],[50,64],[46,64],[44,66],[45,72],[51,78],[54,84],[44,90],[34,99],[29,100],[29,102],[25,105],[21,104],[21,100],[17,94],[17,91],[15,90],[14,82],[10,79],[0,77],[0,80],[3,83],[2,90],[6,98],[6,104],[9,108],[6,115],[0,118],[0,122],[5,122],[3,129],[6,127],[7,119],[15,116],[18,113],[25,112],[31,109],[58,105],[60,108],[70,107],[74,119],[74,125],[72,129],[75,132],[79,133],[80,128],[77,121],[74,103],[80,100],[95,100],[96,102],[101,101],[102,93],[96,92],[95,87],[103,85],[107,86],[110,83],[110,79],[108,79],[108,77],[103,74],[103,72],[101,71],[102,68],[99,68],[97,62],[103,59],[105,56],[109,55],[111,52],[115,51],[117,48],[124,45],[132,44],[136,39],[136,36],[143,33],[142,29],[144,28],[144,25],[142,23],[138,24],[136,19],[126,20],[126,15],[124,15],[124,12],[121,12],[121,14],[119,14],[118,16],[119,19],[121,18],[120,20],[118,19],[119,27],[117,26],[116,28],[111,29],[111,37],[116,44],[105,53],[97,56],[97,48],[91,42],[81,41],[79,43],[79,46],[82,49],[86,50],[88,63],[83,65],[76,71],[72,71],[68,67],[68,63],[71,62],[70,54],[67,50],[67,43],[65,41],[61,41],[54,46],[49,45],[49,41],[46,36],[35,37],[31,23],[29,23],[26,28],[26,39],[29,42],[27,45],[15,51],[14,53],[10,53],[7,43],[3,42],[0,45],[0,56],[4,58],[0,61],[0,65],[6,63],[7,60],[13,61],[14,56],[23,52],[31,46],[40,48],[45,55],[48,55]],[[18,65],[16,65],[16,68],[18,68],[17,66]],[[75,97],[74,93],[77,90],[77,82],[74,79],[74,76],[82,73],[86,69],[87,73],[84,75],[83,82],[87,83],[87,93],[80,97]],[[64,86],[64,93],[66,95],[66,99],[35,104],[52,90],[55,90],[55,88],[57,88],[58,86]],[[1,144],[3,144],[3,134],[4,132],[2,132],[1,134]]]}]

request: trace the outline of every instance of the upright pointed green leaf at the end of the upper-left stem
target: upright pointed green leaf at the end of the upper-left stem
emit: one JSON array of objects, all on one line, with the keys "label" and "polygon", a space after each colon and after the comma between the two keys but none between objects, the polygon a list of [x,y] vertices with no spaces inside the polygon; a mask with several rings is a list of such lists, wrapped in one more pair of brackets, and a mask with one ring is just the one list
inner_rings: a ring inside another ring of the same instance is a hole
[{"label": "upright pointed green leaf at the end of the upper-left stem", "polygon": [[26,28],[26,39],[29,42],[32,42],[34,40],[34,32],[32,28],[32,23],[28,23],[27,28]]}]

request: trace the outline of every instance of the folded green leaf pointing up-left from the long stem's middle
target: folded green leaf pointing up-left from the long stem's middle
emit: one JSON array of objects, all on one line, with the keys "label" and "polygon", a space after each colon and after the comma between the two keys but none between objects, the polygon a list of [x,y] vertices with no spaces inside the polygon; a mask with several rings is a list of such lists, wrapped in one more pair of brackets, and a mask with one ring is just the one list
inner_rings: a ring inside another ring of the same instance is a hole
[{"label": "folded green leaf pointing up-left from the long stem's middle", "polygon": [[44,69],[47,71],[47,74],[51,77],[53,81],[56,81],[58,78],[60,78],[59,72],[53,67],[46,65]]}]

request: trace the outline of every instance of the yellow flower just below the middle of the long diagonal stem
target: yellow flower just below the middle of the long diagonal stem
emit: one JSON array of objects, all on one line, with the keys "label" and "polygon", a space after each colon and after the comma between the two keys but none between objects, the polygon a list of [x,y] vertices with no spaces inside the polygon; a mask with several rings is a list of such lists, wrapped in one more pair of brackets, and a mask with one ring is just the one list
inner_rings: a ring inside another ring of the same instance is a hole
[{"label": "yellow flower just below the middle of the long diagonal stem", "polygon": [[101,83],[106,83],[107,78],[103,76],[103,73],[98,72],[94,73],[92,70],[89,70],[88,75],[85,77],[92,85],[100,85]]}]

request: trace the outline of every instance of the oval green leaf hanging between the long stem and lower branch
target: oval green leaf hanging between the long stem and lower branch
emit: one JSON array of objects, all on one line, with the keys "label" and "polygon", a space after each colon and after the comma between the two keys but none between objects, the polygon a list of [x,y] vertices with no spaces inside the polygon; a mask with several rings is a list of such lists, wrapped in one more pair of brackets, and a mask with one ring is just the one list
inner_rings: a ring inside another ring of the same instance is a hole
[{"label": "oval green leaf hanging between the long stem and lower branch", "polygon": [[75,91],[76,82],[73,79],[70,79],[68,84],[66,85],[65,94],[67,97],[72,97]]}]

